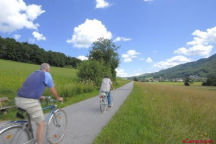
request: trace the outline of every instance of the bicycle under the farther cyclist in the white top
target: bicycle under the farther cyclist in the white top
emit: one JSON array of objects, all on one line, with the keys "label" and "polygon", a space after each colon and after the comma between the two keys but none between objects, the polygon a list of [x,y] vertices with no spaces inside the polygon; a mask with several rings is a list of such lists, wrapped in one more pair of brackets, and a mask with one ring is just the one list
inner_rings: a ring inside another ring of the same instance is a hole
[{"label": "bicycle under the farther cyclist in the white top", "polygon": [[[100,93],[100,110],[102,113],[104,113],[108,107],[108,92],[101,92]],[[110,96],[111,98],[111,107],[113,107],[113,97]]]}]

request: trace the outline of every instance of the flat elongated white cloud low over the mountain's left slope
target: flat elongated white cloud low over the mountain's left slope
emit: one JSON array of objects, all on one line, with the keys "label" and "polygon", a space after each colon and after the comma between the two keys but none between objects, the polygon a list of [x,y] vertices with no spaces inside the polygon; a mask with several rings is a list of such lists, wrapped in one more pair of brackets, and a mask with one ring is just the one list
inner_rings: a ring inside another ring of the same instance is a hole
[{"label": "flat elongated white cloud low over the mountain's left slope", "polygon": [[174,56],[170,59],[167,59],[166,61],[157,62],[153,65],[153,67],[162,70],[162,69],[167,69],[187,62],[191,62],[191,60],[180,55],[180,56]]}]

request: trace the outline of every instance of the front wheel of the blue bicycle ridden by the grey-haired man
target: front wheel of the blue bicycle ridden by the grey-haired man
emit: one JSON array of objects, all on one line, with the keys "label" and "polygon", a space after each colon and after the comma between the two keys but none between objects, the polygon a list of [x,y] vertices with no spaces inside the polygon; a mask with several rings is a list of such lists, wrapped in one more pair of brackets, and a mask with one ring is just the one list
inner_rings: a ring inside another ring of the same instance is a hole
[{"label": "front wheel of the blue bicycle ridden by the grey-haired man", "polygon": [[52,144],[59,143],[65,135],[66,127],[67,115],[65,111],[62,109],[56,110],[47,125],[47,140]]}]

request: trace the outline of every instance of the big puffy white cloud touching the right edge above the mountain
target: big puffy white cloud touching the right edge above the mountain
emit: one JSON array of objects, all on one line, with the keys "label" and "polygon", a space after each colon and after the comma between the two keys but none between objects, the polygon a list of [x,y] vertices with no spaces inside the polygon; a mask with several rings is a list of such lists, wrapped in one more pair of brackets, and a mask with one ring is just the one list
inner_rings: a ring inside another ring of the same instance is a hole
[{"label": "big puffy white cloud touching the right edge above the mountain", "polygon": [[178,48],[174,53],[208,57],[213,49],[211,44],[216,44],[216,27],[207,29],[206,32],[196,30],[192,35],[195,37],[193,41],[187,42],[188,48]]}]

